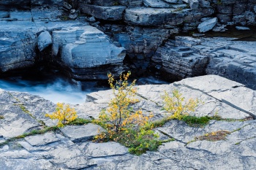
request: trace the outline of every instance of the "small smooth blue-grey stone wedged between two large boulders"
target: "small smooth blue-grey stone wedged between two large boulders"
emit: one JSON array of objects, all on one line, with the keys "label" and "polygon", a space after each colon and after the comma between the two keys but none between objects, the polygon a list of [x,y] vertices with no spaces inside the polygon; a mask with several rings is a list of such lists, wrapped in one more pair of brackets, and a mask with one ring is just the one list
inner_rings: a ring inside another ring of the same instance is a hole
[{"label": "small smooth blue-grey stone wedged between two large boulders", "polygon": [[44,50],[49,45],[53,44],[53,39],[48,31],[44,31],[38,36],[37,46],[39,51]]}]

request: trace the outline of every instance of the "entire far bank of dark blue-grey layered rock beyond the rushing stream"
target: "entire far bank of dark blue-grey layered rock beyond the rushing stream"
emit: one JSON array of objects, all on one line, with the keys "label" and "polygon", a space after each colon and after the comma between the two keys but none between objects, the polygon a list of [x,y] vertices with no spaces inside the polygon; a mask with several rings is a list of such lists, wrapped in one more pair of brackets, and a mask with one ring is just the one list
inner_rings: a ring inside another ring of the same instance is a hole
[{"label": "entire far bank of dark blue-grey layered rock beyond the rushing stream", "polygon": [[[166,58],[170,54],[161,52],[162,48],[173,46],[170,45],[170,38],[178,33],[228,31],[227,25],[254,26],[255,12],[256,2],[253,0],[26,0],[23,3],[3,0],[0,1],[0,72],[26,69],[41,63],[41,66],[58,66],[69,77],[78,80],[102,80],[106,79],[107,72],[118,75],[135,70],[136,74],[143,75],[153,73],[152,68],[163,68],[170,75],[160,72],[159,77],[169,77],[169,80],[173,80],[173,77],[180,80],[203,74],[219,74],[255,88],[254,80],[249,82],[255,75],[253,68],[247,66],[255,55],[254,51],[248,50],[249,46],[237,45],[235,49],[242,51],[247,59],[247,55],[252,58],[248,62],[234,56],[230,58],[230,55],[225,59],[208,55],[225,54],[221,50],[208,50],[205,54],[208,58],[203,57],[201,53],[204,51],[193,47],[197,54],[189,58],[194,61],[191,63],[183,54],[181,66],[174,67],[174,70],[177,67],[181,70],[177,74],[167,66],[169,63],[173,66]],[[193,44],[194,40],[185,41]],[[230,47],[232,40],[220,38],[212,41],[222,41],[223,48]],[[197,45],[203,46],[205,41],[208,40],[196,40]],[[176,42],[174,46],[178,45]],[[206,46],[214,49],[215,45],[213,42]],[[162,53],[161,58],[159,53]],[[236,60],[238,62],[232,65]],[[230,66],[227,66],[228,63]],[[182,71],[183,65],[189,69]],[[227,73],[220,71],[222,68]],[[236,75],[230,75],[234,69],[238,70],[237,74],[244,76],[248,73],[252,76],[246,77],[246,80],[241,80],[239,76],[236,79]]]}]

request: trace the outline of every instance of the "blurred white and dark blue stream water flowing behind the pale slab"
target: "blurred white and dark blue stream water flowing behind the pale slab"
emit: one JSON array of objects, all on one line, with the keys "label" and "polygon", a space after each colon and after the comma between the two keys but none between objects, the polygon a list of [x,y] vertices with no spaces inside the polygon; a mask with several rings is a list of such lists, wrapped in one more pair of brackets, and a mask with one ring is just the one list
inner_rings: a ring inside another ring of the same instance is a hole
[{"label": "blurred white and dark blue stream water flowing behind the pale slab", "polygon": [[[140,78],[137,85],[166,84],[154,77]],[[8,77],[0,79],[0,88],[19,92],[28,92],[41,96],[53,103],[64,102],[82,104],[86,101],[86,94],[109,89],[108,85],[99,86],[97,82],[80,82],[62,76],[48,77]]]}]

